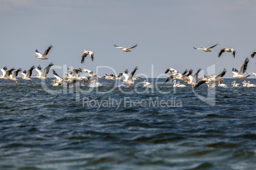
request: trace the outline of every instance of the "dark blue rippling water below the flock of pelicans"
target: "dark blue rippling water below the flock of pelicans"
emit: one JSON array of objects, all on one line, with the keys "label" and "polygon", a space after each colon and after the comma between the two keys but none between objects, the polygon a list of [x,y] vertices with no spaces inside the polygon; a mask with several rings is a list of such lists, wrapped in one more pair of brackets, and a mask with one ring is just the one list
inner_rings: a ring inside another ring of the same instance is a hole
[{"label": "dark blue rippling water below the flock of pelicans", "polygon": [[0,169],[255,169],[256,88],[142,81],[0,80]]}]

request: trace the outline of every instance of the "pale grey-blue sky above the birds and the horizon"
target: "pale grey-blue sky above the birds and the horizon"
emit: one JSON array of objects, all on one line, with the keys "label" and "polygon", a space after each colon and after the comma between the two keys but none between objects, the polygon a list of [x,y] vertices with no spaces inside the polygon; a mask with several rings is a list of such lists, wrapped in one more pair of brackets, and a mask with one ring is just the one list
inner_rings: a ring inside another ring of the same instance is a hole
[{"label": "pale grey-blue sky above the birds and the horizon", "polygon": [[[53,62],[60,75],[66,67],[103,75],[137,66],[136,75],[163,78],[169,67],[201,68],[201,75],[225,68],[229,77],[256,51],[255,7],[255,0],[0,0],[0,67]],[[128,53],[114,47],[136,43]],[[217,43],[209,53],[193,48]],[[50,44],[48,60],[34,57]],[[227,52],[218,58],[221,48],[235,49],[236,58]],[[94,51],[94,62],[87,56],[80,63],[83,49]],[[256,72],[255,62],[250,58],[246,72]]]}]

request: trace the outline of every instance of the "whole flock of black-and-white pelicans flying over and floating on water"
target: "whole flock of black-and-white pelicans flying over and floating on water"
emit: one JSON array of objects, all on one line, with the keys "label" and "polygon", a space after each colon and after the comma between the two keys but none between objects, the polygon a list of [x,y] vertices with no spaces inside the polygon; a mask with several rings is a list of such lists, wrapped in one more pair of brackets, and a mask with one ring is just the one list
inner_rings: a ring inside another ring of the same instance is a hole
[{"label": "whole flock of black-and-white pelicans flying over and floating on water", "polygon": [[[203,51],[205,51],[205,52],[211,52],[211,48],[214,48],[217,45],[218,44],[215,44],[215,45],[210,46],[208,48],[204,48],[204,47],[202,47],[202,48],[193,47],[193,48],[194,49],[203,49]],[[114,46],[115,46],[115,48],[122,49],[122,51],[124,51],[124,52],[129,52],[129,51],[131,51],[132,48],[135,48],[136,46],[138,46],[138,44],[136,44],[135,46],[131,46],[129,48],[120,47],[120,46],[117,46],[115,44],[114,44]],[[45,52],[43,54],[39,53],[38,49],[36,49],[36,55],[37,56],[35,56],[35,57],[37,57],[41,60],[47,60],[48,58],[46,58],[46,56],[48,55],[50,49],[52,49],[52,45],[50,45],[45,50]],[[222,53],[224,53],[225,51],[229,52],[229,53],[232,53],[233,57],[235,57],[235,55],[236,55],[236,51],[234,49],[222,48],[222,49],[220,49],[218,57],[220,57],[222,55]],[[88,55],[90,56],[91,60],[94,61],[94,52],[87,51],[87,50],[83,50],[81,52],[83,52],[83,55],[81,56],[81,63],[85,62],[85,57],[88,56]],[[256,51],[253,51],[251,57],[253,58],[255,55],[256,55]],[[247,79],[247,77],[250,76],[250,75],[243,75],[243,74],[245,74],[245,72],[246,72],[248,62],[249,62],[249,58],[245,58],[245,62],[243,62],[240,69],[237,70],[237,69],[233,68],[232,69],[233,74],[231,74],[231,75],[234,78],[237,78],[237,79],[242,79],[242,80]],[[52,66],[53,66],[53,63],[50,63],[42,71],[40,65],[36,68],[33,65],[30,69],[24,70],[21,73],[23,75],[22,79],[24,79],[25,81],[31,81],[31,82],[32,82],[31,76],[36,76],[38,79],[41,79],[41,80],[50,79],[46,76],[47,76],[47,74],[48,74],[48,72],[49,72],[49,70]],[[32,71],[34,69],[38,72],[38,74],[32,75]],[[134,70],[132,70],[132,72],[130,74],[128,74],[128,70],[126,69],[123,73],[120,73],[118,75],[114,75],[114,74],[107,75],[107,74],[105,74],[105,75],[103,75],[103,77],[100,77],[100,76],[94,74],[92,72],[92,70],[87,70],[87,69],[68,69],[68,72],[65,72],[66,76],[65,77],[60,77],[55,72],[55,70],[52,70],[53,76],[56,78],[56,79],[53,80],[52,86],[71,86],[75,82],[80,82],[80,81],[83,84],[85,84],[86,82],[90,82],[90,79],[93,80],[90,83],[92,83],[92,82],[98,83],[98,82],[96,82],[96,79],[103,79],[104,78],[104,79],[113,80],[113,81],[122,80],[122,81],[124,81],[125,83],[128,84],[128,86],[126,86],[128,88],[129,86],[131,86],[131,84],[134,84],[134,81],[140,80],[140,78],[141,78],[141,77],[133,77],[136,70],[138,70],[138,67],[136,67]],[[18,82],[17,82],[18,72],[21,72],[22,69],[15,70],[14,68],[12,68],[12,69],[8,70],[7,67],[3,67],[3,69],[1,69],[1,71],[3,72],[3,75],[0,75],[0,79],[4,79],[4,80],[8,80],[8,81],[15,81],[18,84]],[[169,76],[164,81],[164,83],[166,83],[168,81],[173,81],[172,82],[174,84],[173,86],[174,87],[180,87],[180,88],[186,87],[185,84],[180,84],[180,81],[187,82],[188,84],[190,84],[192,86],[192,88],[197,88],[201,84],[204,84],[204,83],[207,84],[208,88],[211,88],[211,87],[215,86],[215,82],[218,82],[218,86],[220,86],[220,87],[226,87],[227,86],[225,84],[222,84],[222,82],[221,82],[221,81],[224,81],[224,79],[222,79],[222,77],[227,72],[226,69],[224,69],[218,75],[210,75],[208,77],[206,77],[204,75],[203,77],[198,79],[198,74],[199,74],[200,71],[201,71],[201,69],[198,69],[197,72],[194,75],[192,75],[192,73],[193,73],[192,69],[190,69],[188,71],[185,70],[183,73],[179,73],[178,70],[169,68],[169,69],[166,69],[165,74],[167,74],[168,72],[170,72],[170,73],[169,73]],[[86,72],[87,76],[80,76],[79,74],[81,72]],[[249,73],[249,74],[252,74],[252,75],[256,76],[256,74],[253,73],[253,72]],[[124,76],[124,78],[122,78],[123,76]],[[179,80],[179,81],[176,82],[176,80]],[[143,81],[142,83],[143,83],[144,87],[152,86],[152,84],[150,82]],[[248,81],[248,82],[243,81],[242,83],[243,83],[243,86],[246,86],[246,87],[255,87],[255,84],[250,84],[250,81]],[[231,84],[234,87],[241,86],[241,84],[237,84],[236,81],[232,82]]]}]

